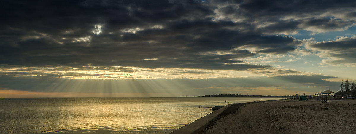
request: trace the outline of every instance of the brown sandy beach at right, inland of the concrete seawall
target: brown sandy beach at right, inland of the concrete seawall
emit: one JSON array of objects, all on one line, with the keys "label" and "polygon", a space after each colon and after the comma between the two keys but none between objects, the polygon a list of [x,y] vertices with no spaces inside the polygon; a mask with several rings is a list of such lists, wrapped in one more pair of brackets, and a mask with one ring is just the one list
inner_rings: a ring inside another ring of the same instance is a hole
[{"label": "brown sandy beach at right, inland of the concrete seawall", "polygon": [[316,100],[235,104],[235,112],[221,116],[202,133],[356,133],[356,100],[330,101],[330,104]]}]

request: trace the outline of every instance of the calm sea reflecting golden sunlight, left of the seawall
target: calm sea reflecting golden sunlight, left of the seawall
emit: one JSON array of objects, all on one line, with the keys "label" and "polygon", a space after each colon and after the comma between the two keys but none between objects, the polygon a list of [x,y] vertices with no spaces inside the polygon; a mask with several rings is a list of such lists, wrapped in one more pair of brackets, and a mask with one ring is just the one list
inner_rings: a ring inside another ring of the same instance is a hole
[{"label": "calm sea reflecting golden sunlight, left of the seawall", "polygon": [[[283,98],[262,98],[278,100]],[[261,98],[0,98],[0,133],[170,133],[204,106]]]}]

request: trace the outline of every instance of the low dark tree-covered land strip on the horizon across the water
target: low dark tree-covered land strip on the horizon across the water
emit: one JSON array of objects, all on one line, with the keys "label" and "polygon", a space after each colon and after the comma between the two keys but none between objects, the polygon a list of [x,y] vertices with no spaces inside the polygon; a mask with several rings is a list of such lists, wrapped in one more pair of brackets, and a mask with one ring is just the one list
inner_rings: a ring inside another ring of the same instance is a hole
[{"label": "low dark tree-covered land strip on the horizon across the water", "polygon": [[[187,96],[185,96],[187,97]],[[204,95],[204,96],[195,96],[195,97],[295,97],[292,95],[284,96],[271,96],[271,95],[239,95],[239,94],[220,94],[220,95]]]}]

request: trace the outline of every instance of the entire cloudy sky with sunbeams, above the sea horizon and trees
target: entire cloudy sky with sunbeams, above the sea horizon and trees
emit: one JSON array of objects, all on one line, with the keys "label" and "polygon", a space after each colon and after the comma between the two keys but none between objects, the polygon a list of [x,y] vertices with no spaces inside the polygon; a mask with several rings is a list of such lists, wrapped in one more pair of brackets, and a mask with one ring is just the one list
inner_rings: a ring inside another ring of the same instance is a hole
[{"label": "entire cloudy sky with sunbeams, above the sea horizon and trees", "polygon": [[0,97],[314,95],[355,80],[355,0],[1,0]]}]

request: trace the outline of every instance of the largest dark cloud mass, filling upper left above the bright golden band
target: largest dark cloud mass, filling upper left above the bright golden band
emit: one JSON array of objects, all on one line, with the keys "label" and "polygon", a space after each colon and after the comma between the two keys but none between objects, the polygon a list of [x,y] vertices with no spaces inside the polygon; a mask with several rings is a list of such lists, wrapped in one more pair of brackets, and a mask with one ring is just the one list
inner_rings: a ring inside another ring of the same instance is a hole
[{"label": "largest dark cloud mass, filling upper left above the bright golden band", "polygon": [[214,2],[5,0],[0,64],[246,70],[271,66],[244,64],[239,58],[256,53],[238,47],[283,54],[299,44],[263,35],[250,22],[217,20]]}]

